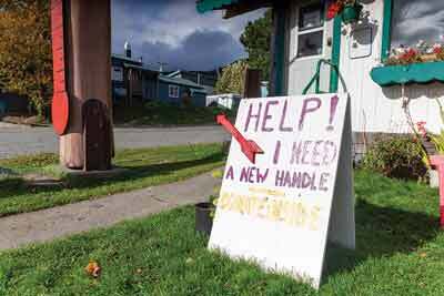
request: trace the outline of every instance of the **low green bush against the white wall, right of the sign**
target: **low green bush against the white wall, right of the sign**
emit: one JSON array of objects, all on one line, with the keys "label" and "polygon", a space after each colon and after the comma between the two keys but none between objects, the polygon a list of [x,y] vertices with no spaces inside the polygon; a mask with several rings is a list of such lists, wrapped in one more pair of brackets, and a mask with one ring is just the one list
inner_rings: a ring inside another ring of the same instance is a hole
[{"label": "low green bush against the white wall, right of the sign", "polygon": [[389,177],[426,181],[427,167],[421,152],[408,136],[379,140],[365,153],[362,167]]}]

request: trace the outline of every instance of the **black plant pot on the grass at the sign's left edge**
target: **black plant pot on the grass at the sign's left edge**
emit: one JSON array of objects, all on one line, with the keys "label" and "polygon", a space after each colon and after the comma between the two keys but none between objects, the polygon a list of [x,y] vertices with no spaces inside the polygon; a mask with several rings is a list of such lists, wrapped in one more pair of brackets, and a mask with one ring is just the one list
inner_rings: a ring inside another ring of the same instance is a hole
[{"label": "black plant pot on the grass at the sign's left edge", "polygon": [[[222,180],[223,172],[218,170],[214,171],[212,175],[214,178]],[[213,191],[215,194],[219,194],[220,186],[215,186]],[[204,233],[206,235],[211,234],[211,229],[213,228],[213,218],[215,214],[216,203],[218,203],[218,196],[210,195],[208,202],[198,203],[194,205],[196,232]]]}]

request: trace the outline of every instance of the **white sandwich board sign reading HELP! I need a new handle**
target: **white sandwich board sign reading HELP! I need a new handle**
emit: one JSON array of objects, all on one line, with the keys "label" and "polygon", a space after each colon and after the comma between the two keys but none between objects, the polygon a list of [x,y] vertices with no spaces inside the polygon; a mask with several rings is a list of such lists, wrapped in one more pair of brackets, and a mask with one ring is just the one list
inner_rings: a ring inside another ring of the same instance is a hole
[{"label": "white sandwich board sign reading HELP! I need a new handle", "polygon": [[209,248],[319,288],[327,242],[355,247],[347,94],[241,101]]}]

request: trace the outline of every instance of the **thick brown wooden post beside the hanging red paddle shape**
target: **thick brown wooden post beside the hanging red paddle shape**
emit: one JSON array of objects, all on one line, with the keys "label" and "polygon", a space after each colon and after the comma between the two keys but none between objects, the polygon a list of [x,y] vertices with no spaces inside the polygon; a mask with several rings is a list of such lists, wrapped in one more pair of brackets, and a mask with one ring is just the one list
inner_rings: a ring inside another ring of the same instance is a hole
[{"label": "thick brown wooden post beside the hanging red paddle shape", "polygon": [[64,41],[70,114],[68,129],[60,137],[60,162],[69,169],[83,169],[83,102],[99,100],[112,113],[111,4],[110,0],[65,1]]}]

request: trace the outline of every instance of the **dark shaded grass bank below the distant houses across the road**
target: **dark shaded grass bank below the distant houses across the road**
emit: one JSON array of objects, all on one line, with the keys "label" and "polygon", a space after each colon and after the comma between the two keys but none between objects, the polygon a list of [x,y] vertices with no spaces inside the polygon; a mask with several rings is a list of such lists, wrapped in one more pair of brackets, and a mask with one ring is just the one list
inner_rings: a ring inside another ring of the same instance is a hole
[{"label": "dark shaded grass bank below the distant houses across the road", "polygon": [[[114,121],[117,124],[154,126],[215,124],[214,115],[220,112],[222,110],[218,108],[184,108],[154,101],[144,105],[119,108]],[[232,115],[232,112],[226,112]]]}]

